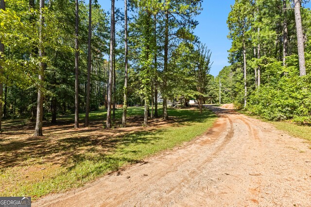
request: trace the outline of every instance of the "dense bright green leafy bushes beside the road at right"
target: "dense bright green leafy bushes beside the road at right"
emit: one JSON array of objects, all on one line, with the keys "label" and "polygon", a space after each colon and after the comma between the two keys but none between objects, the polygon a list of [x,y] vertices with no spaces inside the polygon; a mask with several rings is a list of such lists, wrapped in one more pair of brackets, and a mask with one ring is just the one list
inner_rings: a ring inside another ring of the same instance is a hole
[{"label": "dense bright green leafy bushes beside the road at right", "polygon": [[[295,56],[288,65],[295,65]],[[294,119],[308,122],[311,118],[311,75],[299,77],[296,66],[283,67],[273,61],[265,65],[263,85],[250,96],[248,110],[268,120]]]}]

